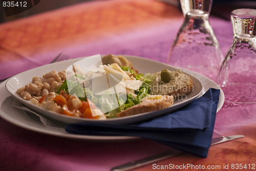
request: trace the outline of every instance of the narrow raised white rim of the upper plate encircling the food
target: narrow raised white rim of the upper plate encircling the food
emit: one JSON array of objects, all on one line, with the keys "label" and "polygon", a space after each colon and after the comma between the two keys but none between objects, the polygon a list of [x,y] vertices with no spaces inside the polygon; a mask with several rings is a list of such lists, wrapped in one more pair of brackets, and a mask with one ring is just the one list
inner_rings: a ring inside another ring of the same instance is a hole
[{"label": "narrow raised white rim of the upper plate encircling the food", "polygon": [[[104,56],[104,55],[101,55],[101,56]],[[172,68],[173,70],[177,70],[178,69],[176,67],[173,67],[173,66],[170,66],[170,65],[166,65],[165,63],[162,63],[162,62],[159,62],[159,61],[155,61],[155,60],[151,60],[151,59],[147,59],[147,58],[143,58],[143,57],[131,56],[131,55],[123,55],[123,56],[127,57],[127,59],[130,58],[132,60],[136,60],[137,59],[137,60],[148,61],[149,63],[158,63],[158,65],[166,66],[166,67]],[[198,85],[199,87],[197,88],[198,90],[196,92],[197,94],[193,95],[192,97],[189,97],[186,100],[178,101],[178,103],[174,103],[172,106],[169,106],[169,108],[166,108],[166,109],[163,109],[163,110],[158,110],[158,111],[153,111],[153,112],[146,112],[146,113],[141,113],[141,114],[127,116],[127,117],[121,117],[121,118],[111,118],[111,119],[107,119],[107,120],[94,120],[94,119],[75,118],[75,117],[71,117],[71,116],[59,115],[59,114],[57,114],[55,112],[47,111],[45,109],[42,109],[39,106],[36,106],[36,105],[30,103],[29,101],[26,101],[26,100],[20,98],[19,95],[17,95],[15,92],[13,92],[13,91],[15,91],[15,89],[11,87],[12,86],[11,83],[12,83],[13,79],[17,79],[20,76],[25,75],[26,73],[27,74],[32,73],[34,70],[38,71],[38,70],[40,70],[42,68],[46,69],[46,68],[48,68],[49,66],[52,66],[52,65],[54,65],[54,66],[60,65],[60,63],[65,63],[65,64],[67,62],[72,63],[72,62],[76,62],[76,61],[79,61],[79,60],[84,59],[84,58],[86,58],[86,57],[80,57],[80,58],[75,58],[75,59],[70,59],[70,60],[50,63],[48,65],[40,66],[40,67],[31,69],[31,70],[28,70],[28,71],[16,74],[16,75],[10,77],[7,80],[7,82],[5,84],[6,90],[15,99],[17,99],[19,102],[23,103],[28,108],[31,108],[32,110],[35,110],[38,114],[41,114],[42,116],[47,116],[47,117],[53,118],[55,120],[59,120],[59,118],[60,118],[59,121],[65,122],[65,123],[90,122],[90,123],[109,123],[109,124],[115,124],[115,123],[117,123],[117,124],[130,124],[130,123],[134,123],[134,121],[133,121],[134,119],[135,119],[135,122],[138,122],[138,121],[143,121],[145,119],[151,119],[151,118],[156,117],[156,116],[161,116],[163,114],[166,114],[167,112],[172,112],[172,111],[175,111],[175,110],[177,110],[179,108],[182,108],[184,105],[190,103],[191,101],[195,100],[198,96],[200,96],[202,94],[202,91],[203,91],[203,84],[202,84],[202,82],[197,77],[195,77],[195,76],[193,76],[193,75],[183,71],[185,74],[190,75],[190,77],[192,79],[194,79],[195,83],[197,82],[199,84]]]}]

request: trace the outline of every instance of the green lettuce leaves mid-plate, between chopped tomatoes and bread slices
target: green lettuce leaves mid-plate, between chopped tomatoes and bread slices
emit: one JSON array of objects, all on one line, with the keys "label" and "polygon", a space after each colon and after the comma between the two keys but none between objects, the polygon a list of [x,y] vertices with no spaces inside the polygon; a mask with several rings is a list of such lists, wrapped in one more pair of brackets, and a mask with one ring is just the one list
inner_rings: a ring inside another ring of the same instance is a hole
[{"label": "green lettuce leaves mid-plate, between chopped tomatoes and bread slices", "polygon": [[[113,98],[117,98],[116,95],[94,95],[89,88],[82,88],[80,84],[77,84],[77,82],[72,80],[65,80],[57,89],[57,94],[60,94],[61,91],[65,91],[68,94],[76,94],[77,97],[82,101],[87,101],[87,98],[92,100],[94,104],[100,108],[104,109],[104,111],[110,111],[105,113],[107,118],[115,118],[117,117],[116,114],[119,112],[122,112],[125,109],[131,108],[132,106],[141,103],[142,99],[150,94],[151,86],[150,83],[154,80],[154,76],[151,74],[137,74],[136,71],[132,70],[130,67],[121,67],[123,71],[128,71],[130,73],[135,73],[135,78],[137,80],[143,81],[142,85],[140,86],[138,91],[135,91],[135,94],[137,95],[135,98],[131,95],[127,95],[127,99],[124,102],[123,99],[118,97],[118,100],[122,102],[123,105],[119,105],[118,108],[113,109]],[[75,75],[74,77],[77,77],[81,80],[84,80],[84,77]],[[86,94],[87,92],[87,94]],[[124,103],[123,103],[124,102]]]}]

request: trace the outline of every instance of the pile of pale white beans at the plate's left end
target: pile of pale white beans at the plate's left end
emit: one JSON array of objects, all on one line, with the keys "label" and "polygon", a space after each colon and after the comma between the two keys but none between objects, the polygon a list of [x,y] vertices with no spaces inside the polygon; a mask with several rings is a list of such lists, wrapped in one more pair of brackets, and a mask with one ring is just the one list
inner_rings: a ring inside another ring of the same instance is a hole
[{"label": "pile of pale white beans at the plate's left end", "polygon": [[48,95],[49,92],[55,92],[66,79],[65,71],[51,71],[42,77],[33,77],[31,83],[27,84],[16,91],[25,100],[35,98],[39,100],[42,96]]}]

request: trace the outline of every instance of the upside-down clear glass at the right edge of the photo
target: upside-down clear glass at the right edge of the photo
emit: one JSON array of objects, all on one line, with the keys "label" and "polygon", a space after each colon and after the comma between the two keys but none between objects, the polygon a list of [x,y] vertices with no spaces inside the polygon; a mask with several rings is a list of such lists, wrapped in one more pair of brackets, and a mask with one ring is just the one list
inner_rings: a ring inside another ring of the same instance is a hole
[{"label": "upside-down clear glass at the right edge of the photo", "polygon": [[219,72],[217,82],[225,99],[232,102],[256,102],[256,10],[231,12],[233,42]]}]

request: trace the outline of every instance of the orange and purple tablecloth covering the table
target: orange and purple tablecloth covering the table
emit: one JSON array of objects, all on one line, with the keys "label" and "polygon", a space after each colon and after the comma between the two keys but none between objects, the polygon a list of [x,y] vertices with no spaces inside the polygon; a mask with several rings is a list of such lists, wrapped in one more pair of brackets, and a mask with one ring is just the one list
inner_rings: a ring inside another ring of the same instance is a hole
[{"label": "orange and purple tablecloth covering the table", "polygon": [[[213,15],[209,20],[225,54],[233,38],[231,22]],[[182,22],[178,7],[154,0],[86,2],[7,22],[0,25],[0,80],[46,65],[59,53],[71,58],[136,55],[166,62]],[[242,170],[241,166],[243,170],[256,169],[255,109],[256,104],[225,101],[217,113],[214,136],[244,138],[211,146],[207,158],[184,153],[155,164],[195,166],[180,170],[198,170],[200,165],[220,167],[219,170],[224,166],[228,167],[226,170]],[[1,171],[110,170],[172,150],[147,139],[93,142],[55,137],[25,130],[0,118]],[[148,164],[134,170],[157,169]]]}]

